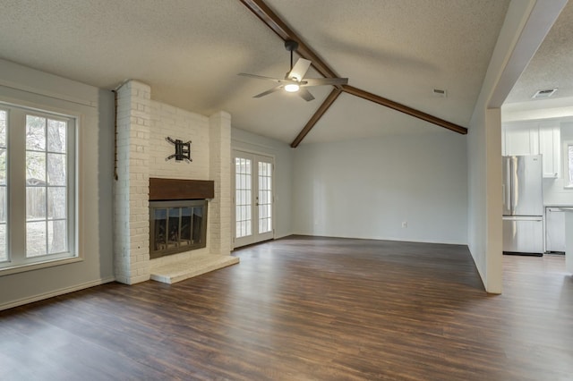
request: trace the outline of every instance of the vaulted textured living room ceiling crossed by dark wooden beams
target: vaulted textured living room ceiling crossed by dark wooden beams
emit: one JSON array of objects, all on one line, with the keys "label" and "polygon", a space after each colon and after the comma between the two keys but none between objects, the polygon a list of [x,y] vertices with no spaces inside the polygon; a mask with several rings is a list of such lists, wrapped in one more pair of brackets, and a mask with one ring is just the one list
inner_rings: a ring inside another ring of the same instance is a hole
[{"label": "vaulted textured living room ceiling crossed by dark wooden beams", "polygon": [[[268,0],[349,84],[467,127],[509,0]],[[238,0],[4,0],[0,58],[115,89],[127,79],[201,114],[290,143],[327,97],[274,93],[238,72],[282,77],[283,42]],[[311,76],[318,77],[311,71]],[[446,89],[448,97],[432,96]],[[343,94],[304,143],[444,131]]]}]

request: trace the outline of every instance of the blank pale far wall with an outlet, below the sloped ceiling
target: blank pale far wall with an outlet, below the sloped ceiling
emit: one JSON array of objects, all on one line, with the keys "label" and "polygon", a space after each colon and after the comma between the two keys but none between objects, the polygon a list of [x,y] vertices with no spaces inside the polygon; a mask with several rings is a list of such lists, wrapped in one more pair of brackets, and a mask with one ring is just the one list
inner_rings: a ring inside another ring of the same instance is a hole
[{"label": "blank pale far wall with an outlet, below the sloped ceiling", "polygon": [[294,233],[466,244],[463,135],[302,144],[294,174]]}]

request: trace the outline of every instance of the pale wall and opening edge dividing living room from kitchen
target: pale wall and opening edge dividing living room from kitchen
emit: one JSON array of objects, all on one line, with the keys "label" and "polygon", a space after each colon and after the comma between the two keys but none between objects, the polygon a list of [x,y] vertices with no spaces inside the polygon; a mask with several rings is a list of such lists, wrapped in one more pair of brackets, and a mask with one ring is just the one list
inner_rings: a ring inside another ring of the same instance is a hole
[{"label": "pale wall and opening edge dividing living room from kitchen", "polygon": [[[514,0],[509,4],[468,129],[467,241],[485,290],[492,293],[501,293],[502,290],[501,158],[499,163],[494,158],[501,157],[501,115],[496,123],[487,114],[491,109],[492,98],[497,98],[501,104],[523,72],[526,63],[520,67],[517,64],[521,62],[520,59],[516,58],[515,67],[509,63],[519,34],[525,28],[527,17],[534,6],[533,0]],[[508,83],[500,84],[500,78],[508,78]],[[493,114],[500,114],[495,110],[492,109]]]}]

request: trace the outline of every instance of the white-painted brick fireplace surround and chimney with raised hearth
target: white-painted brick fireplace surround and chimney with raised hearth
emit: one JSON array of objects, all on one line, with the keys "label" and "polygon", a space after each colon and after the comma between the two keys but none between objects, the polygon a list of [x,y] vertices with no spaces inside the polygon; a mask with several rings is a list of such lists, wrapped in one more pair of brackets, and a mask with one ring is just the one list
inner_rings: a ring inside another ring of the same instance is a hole
[{"label": "white-painted brick fireplace surround and chimney with raised hearth", "polygon": [[[175,283],[238,262],[231,251],[230,115],[194,114],[151,100],[149,86],[117,89],[115,279]],[[192,162],[166,160],[166,138],[191,140]],[[213,182],[206,246],[150,259],[150,178]]]}]

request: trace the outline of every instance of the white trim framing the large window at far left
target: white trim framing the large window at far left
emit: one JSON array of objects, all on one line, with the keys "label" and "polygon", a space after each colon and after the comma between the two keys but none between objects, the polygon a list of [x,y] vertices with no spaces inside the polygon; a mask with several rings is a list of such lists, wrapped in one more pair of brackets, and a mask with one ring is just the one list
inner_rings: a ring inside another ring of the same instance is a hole
[{"label": "white trim framing the large window at far left", "polygon": [[[2,88],[0,86],[0,88]],[[6,88],[4,88],[6,89]],[[2,90],[4,90],[2,89]],[[11,92],[20,93],[21,91],[17,89],[9,89],[7,91],[8,94]],[[74,138],[73,138],[73,155],[74,155],[74,168],[73,168],[73,182],[74,182],[74,195],[73,195],[73,203],[74,203],[74,211],[73,211],[73,247],[69,248],[70,252],[73,252],[73,256],[64,257],[64,258],[47,258],[46,260],[38,260],[38,262],[30,262],[24,264],[18,264],[15,266],[7,266],[7,267],[0,267],[0,276],[3,275],[11,275],[17,273],[23,273],[32,270],[38,270],[40,268],[47,268],[47,267],[56,267],[62,266],[66,264],[72,264],[76,262],[81,262],[84,260],[83,257],[83,250],[81,250],[81,119],[82,114],[78,113],[77,111],[69,110],[66,107],[62,107],[62,102],[56,100],[52,97],[44,97],[38,94],[33,94],[32,97],[36,98],[36,102],[24,101],[21,98],[14,98],[14,97],[5,97],[6,94],[3,94],[4,91],[0,91],[0,106],[6,107],[18,107],[23,109],[29,109],[30,111],[37,110],[40,113],[47,113],[47,114],[54,114],[54,115],[61,115],[66,118],[73,118],[75,127],[74,127]],[[4,97],[3,97],[4,95]],[[12,94],[10,94],[12,95]],[[38,102],[38,98],[41,99],[42,102]],[[45,102],[43,102],[45,101]],[[55,103],[57,105],[55,105]]]}]

